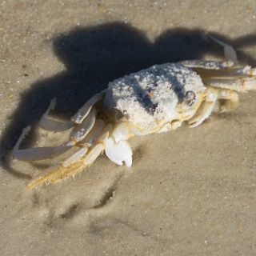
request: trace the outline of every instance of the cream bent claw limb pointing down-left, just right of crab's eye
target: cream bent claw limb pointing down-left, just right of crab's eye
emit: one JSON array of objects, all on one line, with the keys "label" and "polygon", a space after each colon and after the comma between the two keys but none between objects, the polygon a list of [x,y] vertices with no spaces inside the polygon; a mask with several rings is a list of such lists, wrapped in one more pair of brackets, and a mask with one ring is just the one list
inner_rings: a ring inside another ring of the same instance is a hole
[{"label": "cream bent claw limb pointing down-left, just right of crab's eye", "polygon": [[189,120],[190,128],[199,126],[200,124],[202,124],[202,122],[206,120],[206,118],[209,118],[212,110],[214,109],[214,105],[217,99],[218,99],[217,90],[214,90],[213,88],[208,88],[205,102],[202,103],[201,113]]}]

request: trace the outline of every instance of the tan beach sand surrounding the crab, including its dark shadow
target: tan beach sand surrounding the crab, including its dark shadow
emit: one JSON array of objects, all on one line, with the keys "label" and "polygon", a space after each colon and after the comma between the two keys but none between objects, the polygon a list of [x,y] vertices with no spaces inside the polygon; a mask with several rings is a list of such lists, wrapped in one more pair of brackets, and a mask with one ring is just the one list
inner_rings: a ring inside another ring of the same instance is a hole
[{"label": "tan beach sand surrounding the crab, including its dark shadow", "polygon": [[[114,78],[220,57],[204,31],[255,65],[255,22],[254,0],[1,1],[1,156],[53,97],[55,113],[70,117]],[[255,96],[195,129],[132,139],[131,169],[102,156],[74,179],[28,191],[47,162],[2,158],[0,254],[255,255]]]}]

